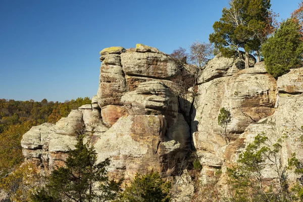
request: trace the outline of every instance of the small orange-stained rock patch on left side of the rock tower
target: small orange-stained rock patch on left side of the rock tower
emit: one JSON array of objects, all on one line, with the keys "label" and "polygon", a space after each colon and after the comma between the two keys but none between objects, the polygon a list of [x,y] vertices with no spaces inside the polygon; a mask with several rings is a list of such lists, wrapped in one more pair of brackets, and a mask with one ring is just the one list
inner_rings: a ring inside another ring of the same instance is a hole
[{"label": "small orange-stained rock patch on left side of the rock tower", "polygon": [[125,115],[127,111],[123,106],[107,105],[101,111],[102,120],[108,126],[114,125],[120,117]]}]

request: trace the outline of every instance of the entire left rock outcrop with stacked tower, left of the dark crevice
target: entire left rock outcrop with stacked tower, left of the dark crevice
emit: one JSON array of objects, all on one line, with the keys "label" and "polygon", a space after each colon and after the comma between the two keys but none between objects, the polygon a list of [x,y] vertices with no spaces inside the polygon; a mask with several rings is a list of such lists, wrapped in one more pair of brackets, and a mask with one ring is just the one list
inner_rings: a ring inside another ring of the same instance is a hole
[{"label": "entire left rock outcrop with stacked tower, left of the dark crevice", "polygon": [[190,128],[179,110],[180,86],[170,79],[179,67],[157,48],[105,48],[100,79],[91,105],[73,110],[55,125],[33,127],[22,139],[23,154],[49,173],[63,166],[79,133],[98,161],[111,159],[110,170],[126,180],[140,170],[163,176],[180,172],[191,149]]}]

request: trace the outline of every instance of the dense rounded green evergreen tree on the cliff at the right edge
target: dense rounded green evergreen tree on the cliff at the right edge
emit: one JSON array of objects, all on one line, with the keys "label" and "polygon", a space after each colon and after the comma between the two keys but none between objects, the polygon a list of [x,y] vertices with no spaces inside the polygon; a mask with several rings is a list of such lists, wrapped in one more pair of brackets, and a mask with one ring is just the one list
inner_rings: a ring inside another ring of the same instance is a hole
[{"label": "dense rounded green evergreen tree on the cliff at the right edge", "polygon": [[302,64],[303,43],[298,22],[288,19],[262,46],[266,70],[275,78]]}]

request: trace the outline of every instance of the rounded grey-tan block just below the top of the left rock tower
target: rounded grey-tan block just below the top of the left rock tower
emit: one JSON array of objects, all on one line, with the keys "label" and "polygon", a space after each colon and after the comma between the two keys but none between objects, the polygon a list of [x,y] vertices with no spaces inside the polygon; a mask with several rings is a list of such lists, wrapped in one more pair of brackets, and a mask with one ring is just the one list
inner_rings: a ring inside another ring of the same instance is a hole
[{"label": "rounded grey-tan block just below the top of the left rock tower", "polygon": [[160,53],[126,52],[121,54],[121,63],[127,75],[167,79],[179,73],[175,61]]}]

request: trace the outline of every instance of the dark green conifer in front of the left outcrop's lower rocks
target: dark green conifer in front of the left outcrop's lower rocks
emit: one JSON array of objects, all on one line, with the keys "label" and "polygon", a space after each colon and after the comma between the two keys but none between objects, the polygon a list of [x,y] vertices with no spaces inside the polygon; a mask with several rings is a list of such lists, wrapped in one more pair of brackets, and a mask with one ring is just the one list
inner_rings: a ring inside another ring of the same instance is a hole
[{"label": "dark green conifer in front of the left outcrop's lower rocks", "polygon": [[122,181],[109,180],[106,167],[110,165],[110,160],[96,163],[94,148],[83,144],[82,135],[75,147],[70,150],[66,167],[60,167],[52,173],[46,190],[38,191],[33,196],[33,201],[46,200],[49,197],[77,202],[115,199]]}]

